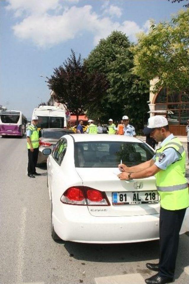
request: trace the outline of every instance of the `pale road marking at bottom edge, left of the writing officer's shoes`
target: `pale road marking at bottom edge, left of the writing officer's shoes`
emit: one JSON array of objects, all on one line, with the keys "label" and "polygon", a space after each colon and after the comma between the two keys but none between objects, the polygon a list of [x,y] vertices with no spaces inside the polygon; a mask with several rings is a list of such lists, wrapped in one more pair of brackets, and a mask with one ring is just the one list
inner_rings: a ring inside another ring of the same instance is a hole
[{"label": "pale road marking at bottom edge, left of the writing officer's shoes", "polygon": [[145,284],[139,273],[94,278],[96,284]]}]

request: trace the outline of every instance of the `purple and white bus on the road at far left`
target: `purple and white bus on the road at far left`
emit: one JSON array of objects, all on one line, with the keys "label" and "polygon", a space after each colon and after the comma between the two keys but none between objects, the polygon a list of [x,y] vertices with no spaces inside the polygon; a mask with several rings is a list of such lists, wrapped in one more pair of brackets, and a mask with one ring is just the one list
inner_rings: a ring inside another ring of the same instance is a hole
[{"label": "purple and white bus on the road at far left", "polygon": [[27,119],[21,111],[0,112],[0,135],[23,136],[26,132]]}]

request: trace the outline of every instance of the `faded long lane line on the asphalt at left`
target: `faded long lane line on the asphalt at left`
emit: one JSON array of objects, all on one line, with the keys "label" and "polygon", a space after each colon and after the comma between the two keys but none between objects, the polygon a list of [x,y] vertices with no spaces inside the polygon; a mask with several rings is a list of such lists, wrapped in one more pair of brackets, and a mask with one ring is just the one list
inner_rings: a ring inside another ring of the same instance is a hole
[{"label": "faded long lane line on the asphalt at left", "polygon": [[26,212],[27,212],[26,207],[23,207],[19,222],[20,231],[17,242],[17,270],[16,270],[16,282],[18,283],[23,282]]}]

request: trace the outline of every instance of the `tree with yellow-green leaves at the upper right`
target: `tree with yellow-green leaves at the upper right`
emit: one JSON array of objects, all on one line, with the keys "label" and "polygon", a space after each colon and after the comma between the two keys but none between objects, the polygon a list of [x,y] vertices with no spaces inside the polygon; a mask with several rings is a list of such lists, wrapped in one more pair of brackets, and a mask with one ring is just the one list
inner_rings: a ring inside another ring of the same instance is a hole
[{"label": "tree with yellow-green leaves at the upper right", "polygon": [[159,77],[160,87],[188,91],[189,87],[189,9],[172,16],[170,22],[151,23],[146,35],[138,35],[134,53],[134,74],[146,80]]}]

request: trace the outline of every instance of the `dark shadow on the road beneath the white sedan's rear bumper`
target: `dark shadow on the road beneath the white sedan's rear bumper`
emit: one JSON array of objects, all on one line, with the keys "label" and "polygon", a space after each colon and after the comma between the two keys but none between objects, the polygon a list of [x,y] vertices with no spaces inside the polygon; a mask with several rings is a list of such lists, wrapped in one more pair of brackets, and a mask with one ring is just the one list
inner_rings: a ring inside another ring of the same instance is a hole
[{"label": "dark shadow on the road beneath the white sedan's rear bumper", "polygon": [[159,257],[159,241],[133,244],[79,244],[66,242],[65,249],[75,259],[92,262],[136,262]]}]

